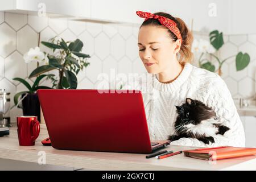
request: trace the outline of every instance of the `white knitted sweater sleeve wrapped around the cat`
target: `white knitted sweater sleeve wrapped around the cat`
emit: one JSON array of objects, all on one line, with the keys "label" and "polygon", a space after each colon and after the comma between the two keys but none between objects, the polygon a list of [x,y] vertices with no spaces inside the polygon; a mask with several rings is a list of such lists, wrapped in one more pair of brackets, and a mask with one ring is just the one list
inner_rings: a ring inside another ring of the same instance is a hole
[{"label": "white knitted sweater sleeve wrapped around the cat", "polygon": [[208,77],[207,81],[200,87],[196,96],[212,107],[218,117],[218,122],[228,126],[229,131],[224,135],[212,136],[214,143],[205,144],[195,138],[180,138],[171,142],[173,145],[196,146],[196,147],[217,147],[217,146],[234,146],[245,147],[245,133],[240,116],[237,113],[232,95],[225,81],[216,73],[212,77]]}]

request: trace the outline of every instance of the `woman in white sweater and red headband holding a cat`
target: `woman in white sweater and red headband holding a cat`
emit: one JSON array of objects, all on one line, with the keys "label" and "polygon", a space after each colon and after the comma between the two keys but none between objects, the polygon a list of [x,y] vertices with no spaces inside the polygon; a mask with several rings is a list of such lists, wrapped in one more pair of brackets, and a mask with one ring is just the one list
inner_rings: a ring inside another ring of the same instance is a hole
[{"label": "woman in white sweater and red headband holding a cat", "polygon": [[151,139],[166,140],[174,134],[175,106],[192,98],[212,107],[218,122],[230,130],[213,136],[214,142],[209,144],[185,137],[171,144],[244,147],[243,125],[224,80],[191,64],[193,37],[184,21],[161,12],[137,11],[137,15],[144,18],[138,34],[139,57],[152,75],[152,97],[143,93]]}]

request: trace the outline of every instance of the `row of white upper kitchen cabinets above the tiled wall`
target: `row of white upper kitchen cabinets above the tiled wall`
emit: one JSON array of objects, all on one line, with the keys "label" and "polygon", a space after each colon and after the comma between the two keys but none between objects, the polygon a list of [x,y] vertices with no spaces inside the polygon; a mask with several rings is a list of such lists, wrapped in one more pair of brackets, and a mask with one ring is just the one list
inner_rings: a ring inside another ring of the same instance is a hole
[{"label": "row of white upper kitchen cabinets above the tiled wall", "polygon": [[[38,14],[45,5],[46,13],[55,17],[103,22],[143,22],[137,10],[164,11],[184,20],[193,31],[219,30],[224,34],[256,33],[256,19],[251,0],[0,0],[0,11]],[[214,14],[216,12],[216,14]]]}]

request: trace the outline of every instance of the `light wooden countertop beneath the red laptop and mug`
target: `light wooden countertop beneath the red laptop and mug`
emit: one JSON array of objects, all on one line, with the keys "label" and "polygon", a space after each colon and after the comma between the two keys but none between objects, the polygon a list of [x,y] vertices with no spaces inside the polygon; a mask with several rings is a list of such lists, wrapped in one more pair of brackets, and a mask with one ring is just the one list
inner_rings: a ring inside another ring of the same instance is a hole
[{"label": "light wooden countertop beneath the red laptop and mug", "polygon": [[[184,154],[166,159],[146,159],[145,154],[117,152],[92,152],[56,150],[43,146],[40,141],[48,137],[45,125],[40,125],[40,135],[35,146],[19,146],[16,127],[10,127],[10,135],[0,138],[0,158],[38,163],[39,152],[46,152],[46,164],[96,170],[256,170],[256,156],[217,160],[209,164],[207,160],[185,157]],[[198,147],[174,146],[166,150],[189,150]]]}]

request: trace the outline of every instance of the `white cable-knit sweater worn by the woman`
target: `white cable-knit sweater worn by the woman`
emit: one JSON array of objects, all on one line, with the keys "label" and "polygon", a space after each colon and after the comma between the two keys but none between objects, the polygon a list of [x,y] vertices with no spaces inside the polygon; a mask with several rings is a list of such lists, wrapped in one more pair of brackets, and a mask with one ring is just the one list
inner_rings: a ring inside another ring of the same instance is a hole
[{"label": "white cable-knit sweater worn by the woman", "polygon": [[226,83],[217,73],[186,63],[180,75],[171,83],[159,82],[151,75],[152,89],[143,93],[148,129],[151,140],[166,140],[174,134],[176,107],[189,97],[212,107],[220,123],[230,128],[224,135],[212,136],[215,143],[205,144],[195,138],[180,138],[171,142],[174,145],[215,147],[245,147],[245,133],[240,116]]}]

